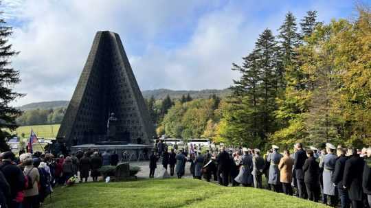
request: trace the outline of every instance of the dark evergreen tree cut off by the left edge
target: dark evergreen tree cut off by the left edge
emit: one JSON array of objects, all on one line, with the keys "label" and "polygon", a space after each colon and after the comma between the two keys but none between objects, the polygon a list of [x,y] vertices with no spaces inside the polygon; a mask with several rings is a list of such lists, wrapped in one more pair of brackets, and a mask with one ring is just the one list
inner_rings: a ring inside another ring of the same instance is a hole
[{"label": "dark evergreen tree cut off by the left edge", "polygon": [[[13,89],[14,84],[21,82],[21,79],[19,71],[10,65],[10,58],[18,54],[12,49],[12,44],[8,42],[12,33],[12,27],[6,25],[4,19],[0,19],[0,131],[2,128],[12,130],[16,128],[16,117],[21,115],[19,109],[10,106],[10,102],[22,96]],[[3,145],[4,137],[5,133],[0,133],[1,152],[6,149],[6,146]]]}]

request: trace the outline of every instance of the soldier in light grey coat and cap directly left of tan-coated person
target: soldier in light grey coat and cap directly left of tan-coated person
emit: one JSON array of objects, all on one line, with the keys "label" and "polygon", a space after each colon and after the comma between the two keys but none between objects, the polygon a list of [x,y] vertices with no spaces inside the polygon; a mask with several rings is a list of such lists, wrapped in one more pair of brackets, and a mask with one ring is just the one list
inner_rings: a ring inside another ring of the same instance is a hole
[{"label": "soldier in light grey coat and cap directly left of tan-coated person", "polygon": [[280,170],[278,170],[278,163],[282,158],[282,154],[278,152],[278,146],[272,145],[272,153],[269,154],[267,161],[270,163],[268,183],[271,185],[273,192],[280,192]]}]

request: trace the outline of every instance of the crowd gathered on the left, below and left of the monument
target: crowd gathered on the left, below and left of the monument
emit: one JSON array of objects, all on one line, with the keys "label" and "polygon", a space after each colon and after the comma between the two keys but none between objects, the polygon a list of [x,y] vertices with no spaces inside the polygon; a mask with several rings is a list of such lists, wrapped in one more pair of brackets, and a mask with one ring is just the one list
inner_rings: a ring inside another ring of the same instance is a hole
[{"label": "crowd gathered on the left, below and left of the monument", "polygon": [[[117,165],[116,152],[88,149],[76,154],[22,153],[0,154],[0,207],[37,208],[53,192],[53,188],[68,185],[71,177],[80,176],[79,182],[87,182],[89,176],[98,181],[103,165]],[[78,174],[78,172],[80,174]]]}]

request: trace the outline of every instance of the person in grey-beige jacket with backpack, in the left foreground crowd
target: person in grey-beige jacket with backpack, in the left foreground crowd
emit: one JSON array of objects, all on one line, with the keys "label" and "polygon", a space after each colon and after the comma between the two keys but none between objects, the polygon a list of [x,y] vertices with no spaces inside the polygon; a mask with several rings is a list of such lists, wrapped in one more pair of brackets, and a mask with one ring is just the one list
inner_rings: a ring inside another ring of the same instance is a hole
[{"label": "person in grey-beige jacket with backpack, in the left foreground crowd", "polygon": [[40,174],[38,168],[34,167],[33,159],[24,161],[25,170],[23,173],[27,177],[28,185],[25,189],[25,198],[23,200],[23,208],[38,208],[40,202],[38,200],[38,183],[40,182]]}]

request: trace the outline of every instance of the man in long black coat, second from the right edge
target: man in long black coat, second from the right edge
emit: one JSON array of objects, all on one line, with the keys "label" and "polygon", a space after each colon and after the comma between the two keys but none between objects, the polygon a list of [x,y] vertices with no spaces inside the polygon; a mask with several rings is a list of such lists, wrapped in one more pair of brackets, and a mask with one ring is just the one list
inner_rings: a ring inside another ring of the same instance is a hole
[{"label": "man in long black coat, second from the right edge", "polygon": [[362,174],[363,159],[359,157],[356,148],[348,150],[352,156],[346,161],[344,167],[343,186],[348,190],[349,198],[352,201],[352,208],[362,207]]}]

